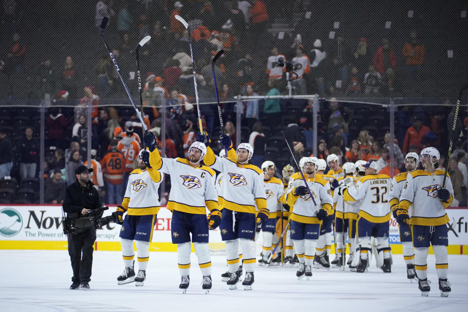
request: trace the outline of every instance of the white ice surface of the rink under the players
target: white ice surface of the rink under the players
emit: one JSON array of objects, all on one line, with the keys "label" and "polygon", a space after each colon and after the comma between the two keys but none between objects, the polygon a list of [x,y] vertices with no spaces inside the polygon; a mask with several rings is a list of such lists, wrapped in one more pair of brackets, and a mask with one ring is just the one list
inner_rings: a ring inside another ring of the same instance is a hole
[{"label": "white ice surface of the rink under the players", "polygon": [[147,280],[137,288],[135,283],[117,285],[123,270],[120,252],[97,251],[91,289],[84,291],[68,289],[72,270],[67,251],[1,250],[0,311],[467,311],[467,259],[449,255],[452,292],[442,298],[433,255],[428,260],[429,297],[406,279],[401,254],[394,255],[392,273],[377,269],[372,259],[367,273],[313,269],[310,281],[298,281],[295,268],[256,267],[252,291],[244,291],[240,283],[229,290],[220,277],[226,258],[213,255],[213,289],[205,294],[192,253],[191,284],[182,294],[176,253],[151,253]]}]

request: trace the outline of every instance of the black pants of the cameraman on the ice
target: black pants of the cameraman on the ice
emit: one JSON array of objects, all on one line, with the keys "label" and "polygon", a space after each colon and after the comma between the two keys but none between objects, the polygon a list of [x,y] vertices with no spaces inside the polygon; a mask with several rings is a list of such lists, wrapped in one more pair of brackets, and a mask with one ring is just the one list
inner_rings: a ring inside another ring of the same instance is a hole
[{"label": "black pants of the cameraman on the ice", "polygon": [[[89,282],[93,265],[93,245],[96,230],[86,230],[79,234],[68,234],[68,254],[72,262],[72,282]],[[82,252],[82,255],[81,255]]]}]

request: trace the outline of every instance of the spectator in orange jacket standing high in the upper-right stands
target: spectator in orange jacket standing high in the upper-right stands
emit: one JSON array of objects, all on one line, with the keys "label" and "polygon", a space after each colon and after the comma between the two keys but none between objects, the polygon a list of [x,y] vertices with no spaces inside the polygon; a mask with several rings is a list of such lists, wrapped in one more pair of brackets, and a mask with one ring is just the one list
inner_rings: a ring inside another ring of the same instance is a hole
[{"label": "spectator in orange jacket standing high in the upper-right stands", "polygon": [[409,34],[409,42],[403,46],[403,56],[406,59],[405,72],[409,81],[418,80],[424,63],[425,47],[417,37],[416,31]]}]

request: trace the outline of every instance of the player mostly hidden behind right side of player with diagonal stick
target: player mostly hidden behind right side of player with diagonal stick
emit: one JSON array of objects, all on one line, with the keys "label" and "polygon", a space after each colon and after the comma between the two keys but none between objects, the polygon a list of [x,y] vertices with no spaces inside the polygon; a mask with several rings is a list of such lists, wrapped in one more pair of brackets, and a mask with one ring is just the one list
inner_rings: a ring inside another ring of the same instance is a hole
[{"label": "player mostly hidden behind right side of player with diagonal stick", "polygon": [[[315,157],[313,157],[315,158]],[[327,168],[327,163],[325,159],[318,159],[318,170],[317,175],[321,176],[324,180],[332,182],[335,180],[335,177],[332,175],[325,175],[324,171]],[[336,183],[335,183],[336,185]],[[336,195],[337,196],[337,195]],[[330,252],[331,252],[331,227],[333,223],[334,207],[336,206],[336,197],[333,190],[331,191],[331,197],[333,198],[333,209],[331,213],[327,215],[325,220],[323,220],[322,225],[320,226],[320,236],[317,240],[317,245],[315,246],[315,256],[313,258],[313,267],[315,269],[326,269],[330,270]]]}]

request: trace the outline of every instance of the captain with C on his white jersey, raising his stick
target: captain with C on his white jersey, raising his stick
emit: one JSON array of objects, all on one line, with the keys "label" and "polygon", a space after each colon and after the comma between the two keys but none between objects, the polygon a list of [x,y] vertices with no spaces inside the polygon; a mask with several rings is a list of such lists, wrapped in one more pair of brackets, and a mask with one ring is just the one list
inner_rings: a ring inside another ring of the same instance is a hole
[{"label": "captain with C on his white jersey, raising his stick", "polygon": [[[200,164],[206,155],[205,144],[194,142],[189,148],[189,159],[161,158],[156,149],[156,137],[146,132],[144,142],[150,150],[150,164],[156,170],[171,176],[171,194],[167,209],[171,210],[171,234],[177,244],[177,261],[181,282],[179,288],[186,292],[190,283],[190,234],[194,243],[198,265],[203,274],[202,289],[206,293],[212,287],[211,256],[208,249],[208,230],[221,222],[215,191],[215,171]],[[207,220],[206,208],[210,211]]]}]

